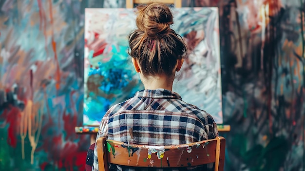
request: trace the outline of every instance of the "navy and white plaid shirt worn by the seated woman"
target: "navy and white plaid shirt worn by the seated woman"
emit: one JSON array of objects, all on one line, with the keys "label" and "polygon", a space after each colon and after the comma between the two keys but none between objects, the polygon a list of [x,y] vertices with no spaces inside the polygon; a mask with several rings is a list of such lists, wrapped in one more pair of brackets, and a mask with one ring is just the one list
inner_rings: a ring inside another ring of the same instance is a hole
[{"label": "navy and white plaid shirt worn by the seated woman", "polygon": [[[110,108],[96,139],[101,136],[129,144],[165,146],[213,139],[218,130],[210,114],[182,101],[177,93],[156,89],[137,92]],[[92,171],[98,171],[96,148]]]}]

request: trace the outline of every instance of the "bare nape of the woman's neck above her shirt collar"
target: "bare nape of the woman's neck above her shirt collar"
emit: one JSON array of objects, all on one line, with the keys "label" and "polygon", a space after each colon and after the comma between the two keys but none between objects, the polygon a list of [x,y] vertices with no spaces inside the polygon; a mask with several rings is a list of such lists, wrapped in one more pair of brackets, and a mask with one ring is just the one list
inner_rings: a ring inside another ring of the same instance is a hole
[{"label": "bare nape of the woman's neck above her shirt collar", "polygon": [[141,76],[147,90],[166,89],[172,91],[173,78],[169,76]]}]

